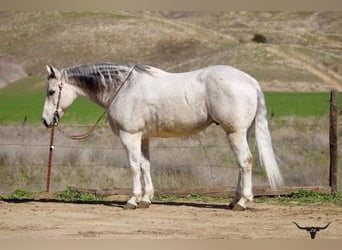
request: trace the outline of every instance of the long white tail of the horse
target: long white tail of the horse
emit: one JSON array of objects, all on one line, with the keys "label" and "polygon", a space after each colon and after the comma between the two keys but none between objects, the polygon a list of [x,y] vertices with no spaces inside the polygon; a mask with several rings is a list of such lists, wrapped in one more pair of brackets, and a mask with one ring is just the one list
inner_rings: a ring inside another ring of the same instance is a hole
[{"label": "long white tail of the horse", "polygon": [[255,116],[255,137],[258,145],[259,160],[266,170],[271,187],[276,188],[283,184],[283,179],[273,152],[271,135],[267,123],[265,98],[259,85],[257,86],[257,92],[258,107]]}]

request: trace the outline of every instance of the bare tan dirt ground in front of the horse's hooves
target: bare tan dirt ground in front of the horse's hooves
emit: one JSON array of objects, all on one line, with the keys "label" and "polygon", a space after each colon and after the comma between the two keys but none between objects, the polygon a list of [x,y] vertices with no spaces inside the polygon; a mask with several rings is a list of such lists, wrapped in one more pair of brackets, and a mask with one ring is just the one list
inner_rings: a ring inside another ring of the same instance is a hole
[{"label": "bare tan dirt ground in front of the horse's hooves", "polygon": [[342,208],[333,205],[250,203],[244,212],[223,204],[159,203],[131,211],[122,205],[0,201],[0,238],[308,239],[293,221],[332,221],[316,238],[342,239]]}]

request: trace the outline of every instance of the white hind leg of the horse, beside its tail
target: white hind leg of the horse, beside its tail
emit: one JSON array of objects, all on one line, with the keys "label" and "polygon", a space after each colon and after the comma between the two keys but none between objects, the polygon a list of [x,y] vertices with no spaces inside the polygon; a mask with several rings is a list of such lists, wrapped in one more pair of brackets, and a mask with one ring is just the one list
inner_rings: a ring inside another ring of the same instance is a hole
[{"label": "white hind leg of the horse, beside its tail", "polygon": [[245,130],[228,135],[232,149],[234,150],[239,164],[239,179],[235,198],[230,203],[233,210],[246,209],[246,201],[253,200],[252,193],[252,162],[253,156],[249,150]]}]

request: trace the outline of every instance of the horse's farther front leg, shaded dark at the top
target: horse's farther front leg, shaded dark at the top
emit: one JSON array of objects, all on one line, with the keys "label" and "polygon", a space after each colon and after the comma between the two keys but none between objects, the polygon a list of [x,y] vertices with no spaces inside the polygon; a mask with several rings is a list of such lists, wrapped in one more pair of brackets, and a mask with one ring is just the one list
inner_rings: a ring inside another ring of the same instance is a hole
[{"label": "horse's farther front leg, shaded dark at the top", "polygon": [[153,183],[150,173],[149,139],[144,139],[141,145],[141,170],[144,180],[144,196],[138,204],[139,208],[148,208],[154,195]]}]

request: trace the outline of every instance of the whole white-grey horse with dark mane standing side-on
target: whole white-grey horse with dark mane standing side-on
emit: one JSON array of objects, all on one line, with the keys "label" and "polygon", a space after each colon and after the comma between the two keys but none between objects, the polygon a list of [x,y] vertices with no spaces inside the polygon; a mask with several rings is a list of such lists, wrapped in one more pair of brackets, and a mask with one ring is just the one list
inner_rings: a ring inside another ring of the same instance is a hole
[{"label": "whole white-grey horse with dark mane standing side-on", "polygon": [[258,82],[245,72],[214,65],[170,73],[149,65],[109,62],[61,70],[51,65],[46,68],[42,113],[46,127],[57,126],[77,96],[84,96],[105,109],[111,130],[120,137],[127,152],[131,169],[133,190],[125,209],[148,208],[151,204],[154,187],[150,174],[150,138],[188,136],[213,123],[225,131],[239,166],[231,209],[244,210],[246,203],[253,200],[253,156],[247,142],[252,126],[270,186],[282,185],[264,95]]}]

